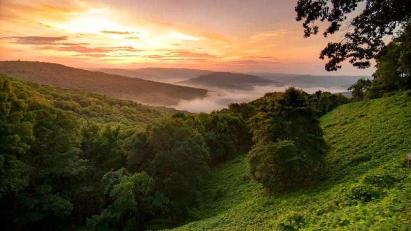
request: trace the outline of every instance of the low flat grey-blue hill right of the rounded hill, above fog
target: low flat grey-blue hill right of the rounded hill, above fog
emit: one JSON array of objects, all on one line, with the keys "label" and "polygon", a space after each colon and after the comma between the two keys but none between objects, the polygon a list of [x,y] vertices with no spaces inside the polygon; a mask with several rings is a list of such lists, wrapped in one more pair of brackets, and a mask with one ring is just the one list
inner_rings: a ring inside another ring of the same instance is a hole
[{"label": "low flat grey-blue hill right of the rounded hill, above fog", "polygon": [[357,82],[357,80],[362,77],[370,78],[369,76],[312,76],[282,73],[251,73],[255,76],[269,78],[272,80],[284,82],[286,85],[295,85],[299,87],[320,86],[347,88],[348,86]]}]

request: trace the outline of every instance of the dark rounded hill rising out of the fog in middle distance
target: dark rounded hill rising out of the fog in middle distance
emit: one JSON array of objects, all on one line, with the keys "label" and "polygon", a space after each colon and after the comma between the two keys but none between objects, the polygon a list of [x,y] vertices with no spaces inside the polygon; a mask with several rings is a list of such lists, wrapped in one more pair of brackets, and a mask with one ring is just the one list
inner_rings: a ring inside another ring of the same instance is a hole
[{"label": "dark rounded hill rising out of the fog in middle distance", "polygon": [[253,90],[254,86],[284,85],[279,81],[267,78],[231,72],[214,72],[208,75],[202,75],[188,80],[176,82],[176,84],[202,86],[205,88],[249,91]]}]

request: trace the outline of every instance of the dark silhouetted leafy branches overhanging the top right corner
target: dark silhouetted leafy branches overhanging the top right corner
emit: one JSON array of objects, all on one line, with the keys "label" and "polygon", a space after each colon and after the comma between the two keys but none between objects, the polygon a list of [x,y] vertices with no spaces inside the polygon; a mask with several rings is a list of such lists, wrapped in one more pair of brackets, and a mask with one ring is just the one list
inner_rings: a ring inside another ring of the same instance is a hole
[{"label": "dark silhouetted leafy branches overhanging the top right corner", "polygon": [[[362,9],[360,3],[364,3],[364,9],[349,19],[348,14]],[[411,0],[299,0],[295,10],[297,21],[305,19],[304,37],[318,33],[318,20],[330,23],[324,37],[348,24],[344,39],[328,43],[320,53],[320,59],[329,59],[325,69],[336,71],[347,59],[358,68],[369,67],[370,60],[384,47],[383,36],[392,35],[397,25],[409,22]]]}]

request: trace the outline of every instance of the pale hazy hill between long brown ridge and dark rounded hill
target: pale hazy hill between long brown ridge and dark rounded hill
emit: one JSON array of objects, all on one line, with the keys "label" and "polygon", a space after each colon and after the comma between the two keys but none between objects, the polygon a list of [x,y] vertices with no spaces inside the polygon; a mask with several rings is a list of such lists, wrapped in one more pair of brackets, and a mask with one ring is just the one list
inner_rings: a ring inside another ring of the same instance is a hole
[{"label": "pale hazy hill between long brown ridge and dark rounded hill", "polygon": [[156,81],[165,83],[174,83],[177,81],[182,81],[190,78],[194,78],[201,75],[208,75],[213,73],[213,71],[198,70],[198,69],[186,69],[186,68],[156,68],[147,67],[139,68],[136,71],[141,73],[150,74],[156,76]]}]

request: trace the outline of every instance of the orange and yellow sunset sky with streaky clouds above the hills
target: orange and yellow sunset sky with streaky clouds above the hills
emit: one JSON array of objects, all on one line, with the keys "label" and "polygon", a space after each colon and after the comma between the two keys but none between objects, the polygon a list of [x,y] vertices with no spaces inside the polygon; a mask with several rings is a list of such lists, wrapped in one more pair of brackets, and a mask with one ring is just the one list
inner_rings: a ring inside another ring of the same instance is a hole
[{"label": "orange and yellow sunset sky with streaky clouds above the hills", "polygon": [[[297,0],[0,0],[0,60],[77,68],[174,67],[371,75],[324,70],[321,34],[303,38]],[[320,28],[324,29],[324,26]]]}]

